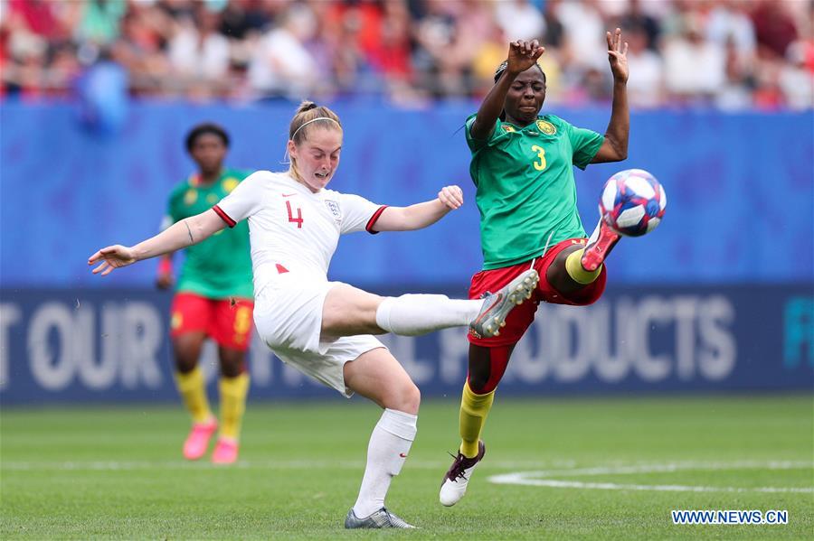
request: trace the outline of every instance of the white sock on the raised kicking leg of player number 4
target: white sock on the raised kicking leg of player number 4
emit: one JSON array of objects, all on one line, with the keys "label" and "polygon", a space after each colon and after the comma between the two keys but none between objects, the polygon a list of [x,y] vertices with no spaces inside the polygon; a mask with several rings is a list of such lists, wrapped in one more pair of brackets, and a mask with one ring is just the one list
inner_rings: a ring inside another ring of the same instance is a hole
[{"label": "white sock on the raised kicking leg of player number 4", "polygon": [[446,295],[407,294],[386,297],[376,311],[384,331],[418,336],[448,327],[463,327],[478,317],[483,301],[450,299]]}]

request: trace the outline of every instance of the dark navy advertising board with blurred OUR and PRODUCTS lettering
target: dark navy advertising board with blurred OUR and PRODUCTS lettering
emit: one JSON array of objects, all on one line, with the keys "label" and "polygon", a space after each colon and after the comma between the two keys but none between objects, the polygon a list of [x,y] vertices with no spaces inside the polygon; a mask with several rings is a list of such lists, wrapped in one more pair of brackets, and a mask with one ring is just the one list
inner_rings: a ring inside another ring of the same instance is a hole
[{"label": "dark navy advertising board with blurred OUR and PRODUCTS lettering", "polygon": [[[112,289],[0,294],[4,406],[177,399],[167,339],[170,294]],[[466,377],[465,331],[415,339],[388,335],[383,341],[424,396],[459,396]],[[213,348],[202,364],[214,392]],[[283,365],[258,340],[250,364],[252,399],[338,396]],[[810,392],[812,384],[810,285],[611,286],[591,307],[541,305],[500,392]]]}]

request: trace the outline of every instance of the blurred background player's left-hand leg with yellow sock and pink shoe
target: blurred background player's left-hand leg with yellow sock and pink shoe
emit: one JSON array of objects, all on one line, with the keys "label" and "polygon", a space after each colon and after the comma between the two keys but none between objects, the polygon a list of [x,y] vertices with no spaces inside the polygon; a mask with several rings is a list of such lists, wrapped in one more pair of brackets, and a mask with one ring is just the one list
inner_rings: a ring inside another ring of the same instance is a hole
[{"label": "blurred background player's left-hand leg with yellow sock and pink shoe", "polygon": [[218,427],[206,398],[204,372],[198,367],[205,339],[204,331],[185,332],[173,339],[175,382],[193,419],[192,429],[184,442],[184,457],[191,461],[204,456]]}]

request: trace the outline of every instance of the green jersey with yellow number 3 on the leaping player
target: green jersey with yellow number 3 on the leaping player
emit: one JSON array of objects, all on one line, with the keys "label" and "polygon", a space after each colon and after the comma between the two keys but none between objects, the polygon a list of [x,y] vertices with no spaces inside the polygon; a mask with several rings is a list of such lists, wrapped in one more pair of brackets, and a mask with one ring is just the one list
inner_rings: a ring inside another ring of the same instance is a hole
[{"label": "green jersey with yellow number 3 on the leaping player", "polygon": [[467,119],[466,134],[484,270],[540,256],[546,243],[585,237],[573,165],[585,169],[604,137],[545,115],[522,128],[497,120],[488,140],[476,140],[475,117]]}]

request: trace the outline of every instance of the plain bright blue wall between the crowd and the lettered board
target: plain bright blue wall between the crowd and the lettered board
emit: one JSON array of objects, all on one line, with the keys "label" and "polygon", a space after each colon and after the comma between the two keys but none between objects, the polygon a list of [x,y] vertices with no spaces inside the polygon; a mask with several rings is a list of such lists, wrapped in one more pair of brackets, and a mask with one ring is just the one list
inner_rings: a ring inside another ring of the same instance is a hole
[{"label": "plain bright blue wall between the crowd and the lettered board", "polygon": [[[120,132],[80,122],[79,104],[0,102],[0,279],[5,287],[147,286],[148,262],[106,280],[85,261],[99,247],[131,244],[158,229],[166,197],[193,171],[183,141],[190,126],[232,133],[229,163],[281,170],[289,103],[195,106],[134,102]],[[467,284],[481,264],[478,210],[461,132],[477,104],[419,110],[358,101],[334,104],[345,125],[342,166],[331,187],[372,201],[408,204],[459,183],[463,209],[419,232],[343,239],[332,277],[353,284]],[[609,107],[552,110],[604,131]],[[814,131],[811,111],[726,114],[639,112],[629,159],[576,172],[592,229],[602,182],[624,168],[655,173],[667,215],[652,235],[625,240],[611,261],[616,284],[806,283],[814,281]],[[540,239],[541,244],[544,239]]]}]

